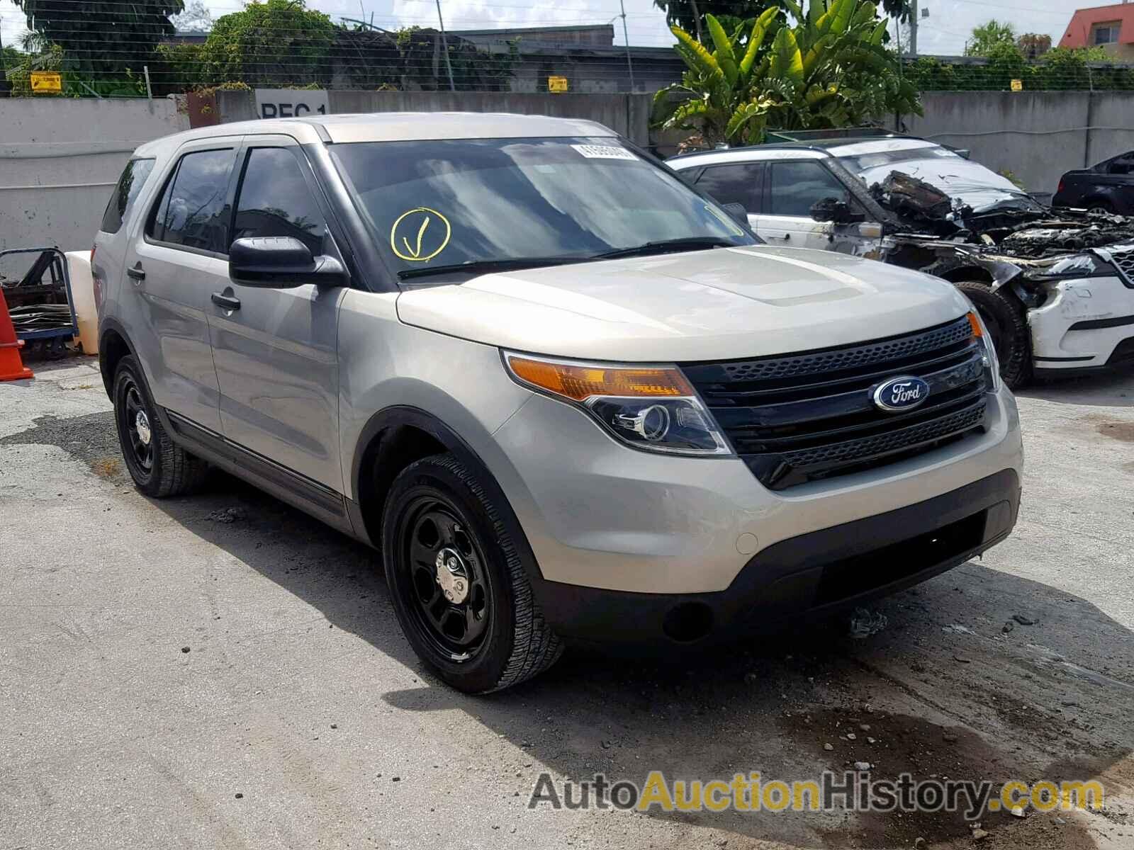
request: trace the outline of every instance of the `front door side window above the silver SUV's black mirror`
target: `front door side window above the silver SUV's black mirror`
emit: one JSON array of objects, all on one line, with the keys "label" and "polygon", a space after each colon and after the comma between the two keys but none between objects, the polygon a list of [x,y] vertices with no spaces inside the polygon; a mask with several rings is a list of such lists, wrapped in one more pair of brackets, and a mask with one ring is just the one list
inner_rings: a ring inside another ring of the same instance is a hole
[{"label": "front door side window above the silver SUV's black mirror", "polygon": [[249,151],[236,203],[232,239],[290,236],[319,256],[324,253],[325,235],[323,213],[291,151],[285,147]]}]

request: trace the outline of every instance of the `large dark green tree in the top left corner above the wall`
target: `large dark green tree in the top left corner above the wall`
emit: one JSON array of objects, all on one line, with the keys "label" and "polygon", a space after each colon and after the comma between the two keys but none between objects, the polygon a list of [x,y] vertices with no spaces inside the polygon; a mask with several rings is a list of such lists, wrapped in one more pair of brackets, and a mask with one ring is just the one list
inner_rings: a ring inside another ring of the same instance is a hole
[{"label": "large dark green tree in the top left corner above the wall", "polygon": [[95,79],[142,71],[154,48],[174,34],[170,15],[183,0],[14,0],[27,28],[64,52],[66,66]]}]

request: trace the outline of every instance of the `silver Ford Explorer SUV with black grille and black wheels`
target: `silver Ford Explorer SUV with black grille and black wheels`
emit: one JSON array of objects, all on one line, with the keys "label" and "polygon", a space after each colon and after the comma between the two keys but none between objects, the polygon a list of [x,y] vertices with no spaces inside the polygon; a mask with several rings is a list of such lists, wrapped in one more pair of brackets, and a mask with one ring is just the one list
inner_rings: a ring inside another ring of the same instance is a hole
[{"label": "silver Ford Explorer SUV with black grille and black wheels", "polygon": [[822,615],[1016,520],[1016,405],[963,295],[764,246],[589,121],[170,136],[126,167],[93,269],[138,488],[213,465],[378,547],[462,690],[567,640]]}]

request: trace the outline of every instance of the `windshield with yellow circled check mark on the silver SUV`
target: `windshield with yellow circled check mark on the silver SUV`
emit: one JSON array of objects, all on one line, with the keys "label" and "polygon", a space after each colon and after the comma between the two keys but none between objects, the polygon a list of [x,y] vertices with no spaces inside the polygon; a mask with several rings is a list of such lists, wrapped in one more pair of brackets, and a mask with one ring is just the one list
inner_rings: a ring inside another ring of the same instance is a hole
[{"label": "windshield with yellow circled check mark on the silver SUV", "polygon": [[670,240],[756,243],[720,206],[616,138],[361,142],[329,150],[398,272],[586,260]]}]

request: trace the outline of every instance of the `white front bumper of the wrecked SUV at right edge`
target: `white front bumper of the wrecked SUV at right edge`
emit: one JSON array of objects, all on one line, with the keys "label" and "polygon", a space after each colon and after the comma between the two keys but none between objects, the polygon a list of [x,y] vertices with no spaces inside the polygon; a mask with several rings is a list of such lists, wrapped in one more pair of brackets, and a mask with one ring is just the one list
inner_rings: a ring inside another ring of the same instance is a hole
[{"label": "white front bumper of the wrecked SUV at right edge", "polygon": [[1134,289],[1117,277],[1059,281],[1027,323],[1038,369],[1119,365],[1134,346]]}]

